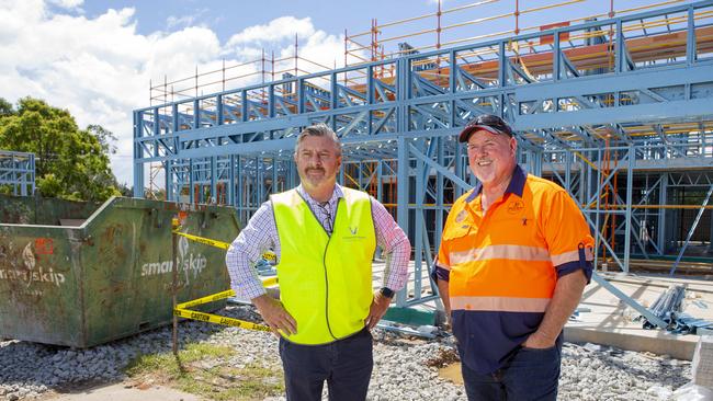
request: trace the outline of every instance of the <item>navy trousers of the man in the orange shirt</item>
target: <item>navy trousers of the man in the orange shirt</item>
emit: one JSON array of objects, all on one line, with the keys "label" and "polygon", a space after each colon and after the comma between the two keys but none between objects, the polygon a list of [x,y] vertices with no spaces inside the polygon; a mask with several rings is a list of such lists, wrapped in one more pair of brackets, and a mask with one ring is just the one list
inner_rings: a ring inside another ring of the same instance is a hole
[{"label": "navy trousers of the man in the orange shirt", "polygon": [[520,347],[502,368],[480,375],[461,364],[468,401],[520,401],[557,399],[562,346]]}]

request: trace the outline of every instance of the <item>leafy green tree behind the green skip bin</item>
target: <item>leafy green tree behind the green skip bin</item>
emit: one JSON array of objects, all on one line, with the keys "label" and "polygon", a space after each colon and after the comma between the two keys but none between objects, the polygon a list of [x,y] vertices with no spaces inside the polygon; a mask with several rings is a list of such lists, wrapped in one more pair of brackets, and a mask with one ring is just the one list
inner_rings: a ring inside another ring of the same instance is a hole
[{"label": "leafy green tree behind the green skip bin", "polygon": [[35,153],[45,197],[102,202],[121,195],[109,164],[114,135],[99,125],[79,129],[66,110],[24,98],[16,110],[0,99],[0,149]]}]

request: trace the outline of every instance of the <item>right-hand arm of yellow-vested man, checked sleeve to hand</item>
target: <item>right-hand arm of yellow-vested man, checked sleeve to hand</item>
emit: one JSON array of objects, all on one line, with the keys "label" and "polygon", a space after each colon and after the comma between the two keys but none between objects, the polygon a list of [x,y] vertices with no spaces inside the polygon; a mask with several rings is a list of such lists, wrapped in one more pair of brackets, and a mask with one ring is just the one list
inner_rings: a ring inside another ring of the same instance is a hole
[{"label": "right-hand arm of yellow-vested man, checked sleeve to hand", "polygon": [[[378,200],[371,198],[372,217],[376,229],[376,243],[384,251],[386,267],[384,270],[384,287],[398,291],[404,288],[408,278],[408,262],[411,259],[411,244],[404,230],[396,224],[392,215]],[[364,322],[373,329],[382,319],[392,299],[380,291],[374,294],[369,316]]]}]

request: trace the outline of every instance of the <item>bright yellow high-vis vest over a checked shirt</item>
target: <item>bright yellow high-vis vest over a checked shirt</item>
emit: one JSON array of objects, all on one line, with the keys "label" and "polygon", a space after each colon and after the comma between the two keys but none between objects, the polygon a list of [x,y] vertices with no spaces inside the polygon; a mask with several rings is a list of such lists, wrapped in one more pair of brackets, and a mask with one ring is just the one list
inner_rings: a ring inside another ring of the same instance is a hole
[{"label": "bright yellow high-vis vest over a checked shirt", "polygon": [[271,196],[281,247],[280,298],[297,322],[297,333],[285,337],[294,343],[347,337],[364,328],[369,314],[376,250],[371,199],[342,192],[331,237],[296,190]]}]

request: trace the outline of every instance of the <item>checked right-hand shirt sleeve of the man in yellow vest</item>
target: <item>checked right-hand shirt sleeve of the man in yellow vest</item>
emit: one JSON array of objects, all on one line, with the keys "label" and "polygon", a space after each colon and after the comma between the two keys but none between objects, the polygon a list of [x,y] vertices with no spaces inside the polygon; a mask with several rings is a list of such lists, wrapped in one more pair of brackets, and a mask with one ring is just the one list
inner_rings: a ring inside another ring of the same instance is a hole
[{"label": "checked right-hand shirt sleeve of the man in yellow vest", "polygon": [[371,203],[376,243],[382,248],[386,260],[384,287],[397,291],[404,288],[408,279],[411,243],[384,205],[373,197],[371,197]]}]

